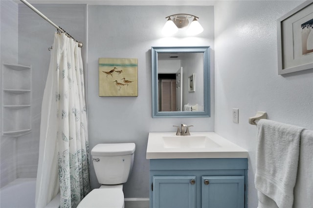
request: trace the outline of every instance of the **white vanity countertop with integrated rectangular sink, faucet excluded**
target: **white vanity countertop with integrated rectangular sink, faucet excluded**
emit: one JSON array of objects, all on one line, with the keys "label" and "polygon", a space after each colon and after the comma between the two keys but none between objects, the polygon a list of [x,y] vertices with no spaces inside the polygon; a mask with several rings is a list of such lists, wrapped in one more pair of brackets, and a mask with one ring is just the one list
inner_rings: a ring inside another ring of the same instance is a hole
[{"label": "white vanity countertop with integrated rectangular sink, faucet excluded", "polygon": [[247,158],[246,149],[224,139],[215,132],[191,132],[176,136],[175,132],[150,132],[147,159],[174,158]]}]

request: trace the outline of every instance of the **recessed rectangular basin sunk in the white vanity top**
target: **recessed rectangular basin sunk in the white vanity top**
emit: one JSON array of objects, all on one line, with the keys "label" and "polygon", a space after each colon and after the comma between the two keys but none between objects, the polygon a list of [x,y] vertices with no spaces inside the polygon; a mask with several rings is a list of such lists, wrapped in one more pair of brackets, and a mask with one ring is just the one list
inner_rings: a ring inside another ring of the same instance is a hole
[{"label": "recessed rectangular basin sunk in the white vanity top", "polygon": [[207,136],[164,136],[165,148],[205,148],[221,147]]}]

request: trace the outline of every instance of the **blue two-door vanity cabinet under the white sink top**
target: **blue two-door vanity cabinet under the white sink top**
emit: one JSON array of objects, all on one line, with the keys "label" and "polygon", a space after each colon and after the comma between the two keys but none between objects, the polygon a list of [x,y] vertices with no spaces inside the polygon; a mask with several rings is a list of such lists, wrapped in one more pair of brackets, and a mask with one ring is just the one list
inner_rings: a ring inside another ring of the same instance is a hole
[{"label": "blue two-door vanity cabinet under the white sink top", "polygon": [[150,208],[247,208],[247,158],[151,159]]}]

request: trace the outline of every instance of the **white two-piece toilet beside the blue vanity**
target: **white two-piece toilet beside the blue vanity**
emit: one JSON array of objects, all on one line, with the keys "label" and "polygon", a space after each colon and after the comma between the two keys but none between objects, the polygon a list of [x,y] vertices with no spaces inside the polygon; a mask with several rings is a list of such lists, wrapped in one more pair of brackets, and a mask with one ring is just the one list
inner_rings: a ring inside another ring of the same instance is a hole
[{"label": "white two-piece toilet beside the blue vanity", "polygon": [[124,208],[123,184],[132,171],[134,152],[134,143],[94,146],[92,163],[101,187],[90,191],[77,208]]}]

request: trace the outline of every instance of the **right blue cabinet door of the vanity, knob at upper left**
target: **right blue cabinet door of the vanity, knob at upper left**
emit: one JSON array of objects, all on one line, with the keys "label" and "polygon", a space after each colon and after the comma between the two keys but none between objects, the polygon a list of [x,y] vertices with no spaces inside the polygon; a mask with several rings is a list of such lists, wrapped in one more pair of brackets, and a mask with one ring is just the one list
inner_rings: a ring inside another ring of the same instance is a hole
[{"label": "right blue cabinet door of the vanity, knob at upper left", "polygon": [[245,208],[244,176],[203,176],[202,208]]}]

